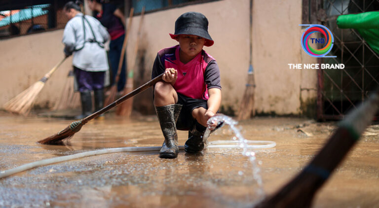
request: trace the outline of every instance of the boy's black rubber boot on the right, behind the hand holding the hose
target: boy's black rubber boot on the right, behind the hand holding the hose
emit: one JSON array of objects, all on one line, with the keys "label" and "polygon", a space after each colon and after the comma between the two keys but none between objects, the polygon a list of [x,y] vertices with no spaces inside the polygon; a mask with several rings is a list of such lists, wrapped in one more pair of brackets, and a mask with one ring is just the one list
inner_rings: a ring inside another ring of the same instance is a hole
[{"label": "boy's black rubber boot on the right, behind the hand holding the hose", "polygon": [[[224,122],[220,122],[214,130],[210,132],[212,134],[217,129],[221,128],[224,125]],[[184,150],[189,153],[200,152],[204,149],[203,135],[205,133],[206,127],[195,122],[192,130],[188,131],[188,139],[184,144]]]}]

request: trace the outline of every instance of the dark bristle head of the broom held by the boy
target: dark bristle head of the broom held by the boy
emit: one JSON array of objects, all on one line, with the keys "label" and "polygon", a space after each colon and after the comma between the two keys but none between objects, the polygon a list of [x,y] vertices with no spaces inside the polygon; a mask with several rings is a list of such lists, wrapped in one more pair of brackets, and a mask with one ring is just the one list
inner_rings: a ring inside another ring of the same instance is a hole
[{"label": "dark bristle head of the broom held by the boy", "polygon": [[71,123],[68,127],[66,127],[64,130],[58,132],[57,134],[51,137],[39,140],[37,142],[40,144],[60,144],[63,142],[64,139],[68,140],[72,138],[76,132],[80,131],[82,126],[83,124],[81,123],[81,120],[75,121]]}]

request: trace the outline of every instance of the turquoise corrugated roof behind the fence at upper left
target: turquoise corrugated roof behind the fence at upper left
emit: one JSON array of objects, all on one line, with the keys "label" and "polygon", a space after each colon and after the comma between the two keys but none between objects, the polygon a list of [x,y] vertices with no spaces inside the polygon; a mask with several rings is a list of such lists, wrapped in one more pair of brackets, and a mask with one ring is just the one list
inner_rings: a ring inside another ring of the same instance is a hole
[{"label": "turquoise corrugated roof behind the fence at upper left", "polygon": [[10,20],[12,23],[22,22],[25,20],[32,19],[32,17],[38,17],[44,14],[47,14],[48,11],[43,10],[44,8],[48,8],[50,4],[41,4],[31,6],[30,8],[21,9],[17,13],[12,14],[11,16],[4,17],[0,20],[0,27],[6,26],[10,24]]}]

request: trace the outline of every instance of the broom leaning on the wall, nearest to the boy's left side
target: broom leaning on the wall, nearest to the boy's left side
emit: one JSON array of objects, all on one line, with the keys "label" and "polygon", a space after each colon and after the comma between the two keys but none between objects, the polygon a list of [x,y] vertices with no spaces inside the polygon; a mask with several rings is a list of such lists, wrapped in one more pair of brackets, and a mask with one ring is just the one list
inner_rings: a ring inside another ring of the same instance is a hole
[{"label": "broom leaning on the wall, nearest to the boy's left side", "polygon": [[[136,60],[137,60],[137,52],[138,52],[138,43],[141,35],[141,28],[142,28],[142,23],[144,20],[144,14],[145,14],[145,6],[142,7],[141,11],[141,20],[140,20],[140,25],[138,27],[138,32],[137,32],[137,40],[136,44],[134,46],[134,61],[132,66],[132,69],[128,72],[128,79],[126,81],[126,86],[124,87],[124,95],[130,93],[133,90],[133,76],[134,76],[134,68],[136,67]],[[121,115],[121,116],[126,116],[127,118],[130,116],[132,112],[132,107],[133,107],[133,99],[130,99],[129,101],[121,104],[120,106],[117,107],[116,109],[116,115]]]}]

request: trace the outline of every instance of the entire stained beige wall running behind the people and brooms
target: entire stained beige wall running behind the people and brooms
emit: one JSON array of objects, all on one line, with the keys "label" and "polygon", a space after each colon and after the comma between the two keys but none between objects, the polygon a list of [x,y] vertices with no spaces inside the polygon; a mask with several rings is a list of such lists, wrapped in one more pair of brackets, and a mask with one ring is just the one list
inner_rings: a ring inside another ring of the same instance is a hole
[{"label": "entire stained beige wall running behind the people and brooms", "polygon": [[[253,66],[256,77],[256,108],[259,113],[300,114],[301,99],[315,98],[316,70],[293,70],[289,63],[314,63],[300,45],[303,30],[301,0],[255,0],[253,28]],[[197,11],[209,20],[209,33],[215,44],[204,49],[218,62],[222,76],[223,102],[237,111],[249,68],[250,0],[220,0],[145,15],[136,62],[136,85],[150,79],[157,51],[177,44],[175,20],[184,12]],[[132,68],[140,16],[133,18],[128,44],[128,68]],[[0,41],[7,53],[1,55],[0,105],[36,82],[63,56],[63,31],[27,35]],[[142,60],[142,61],[141,61]],[[57,99],[71,60],[56,72],[41,92],[38,104],[51,106]],[[135,108],[152,111],[151,92],[135,99]]]}]

